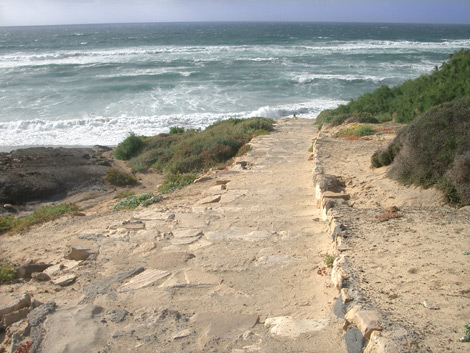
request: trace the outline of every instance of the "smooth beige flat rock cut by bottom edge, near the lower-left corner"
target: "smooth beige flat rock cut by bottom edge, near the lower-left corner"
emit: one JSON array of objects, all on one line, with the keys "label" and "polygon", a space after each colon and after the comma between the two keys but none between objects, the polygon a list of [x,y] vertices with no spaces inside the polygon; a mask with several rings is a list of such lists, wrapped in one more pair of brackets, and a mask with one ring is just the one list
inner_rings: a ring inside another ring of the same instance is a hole
[{"label": "smooth beige flat rock cut by bottom edge, near the lower-left corner", "polygon": [[103,308],[79,305],[57,310],[45,321],[41,352],[86,353],[100,351],[104,339]]}]

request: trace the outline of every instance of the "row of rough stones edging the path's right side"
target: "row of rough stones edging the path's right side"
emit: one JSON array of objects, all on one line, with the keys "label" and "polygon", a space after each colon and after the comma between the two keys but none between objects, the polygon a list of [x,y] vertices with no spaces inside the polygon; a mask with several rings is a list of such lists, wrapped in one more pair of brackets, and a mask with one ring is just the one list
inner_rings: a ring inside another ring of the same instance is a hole
[{"label": "row of rough stones edging the path's right side", "polygon": [[[350,196],[344,192],[341,177],[326,174],[328,156],[322,150],[323,133],[320,130],[313,144],[313,180],[317,206],[323,221],[328,222],[332,240],[331,252],[338,255],[333,263],[331,281],[340,295],[335,304],[335,313],[344,319],[343,336],[348,352],[398,353],[408,351],[407,330],[398,324],[391,325],[385,317],[364,300],[355,282],[356,273],[343,251],[350,250],[347,238],[353,236],[348,225],[342,222],[343,214],[349,213],[347,201]],[[392,327],[386,330],[385,326]]]}]

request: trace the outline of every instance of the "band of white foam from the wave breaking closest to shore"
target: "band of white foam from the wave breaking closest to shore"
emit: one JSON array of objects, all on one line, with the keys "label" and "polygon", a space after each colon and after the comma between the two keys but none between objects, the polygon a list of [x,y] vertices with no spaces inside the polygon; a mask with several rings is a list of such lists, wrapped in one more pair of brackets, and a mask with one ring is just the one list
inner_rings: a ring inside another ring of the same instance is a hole
[{"label": "band of white foam from the wave breaking closest to shore", "polygon": [[62,145],[62,146],[114,146],[129,132],[153,136],[167,133],[171,126],[205,128],[228,118],[266,117],[280,118],[296,114],[300,118],[315,119],[324,109],[346,103],[341,100],[318,99],[280,106],[264,106],[249,112],[192,113],[160,116],[83,117],[70,120],[42,119],[0,123],[0,146]]}]

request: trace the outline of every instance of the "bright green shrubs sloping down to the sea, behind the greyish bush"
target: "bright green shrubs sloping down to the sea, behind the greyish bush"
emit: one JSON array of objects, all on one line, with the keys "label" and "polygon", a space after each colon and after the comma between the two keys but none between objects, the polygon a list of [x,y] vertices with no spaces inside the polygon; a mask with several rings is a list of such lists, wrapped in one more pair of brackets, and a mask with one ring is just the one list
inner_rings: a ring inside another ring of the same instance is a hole
[{"label": "bright green shrubs sloping down to the sea, behind the greyish bush", "polygon": [[[470,95],[470,50],[450,56],[431,74],[390,88],[383,85],[346,105],[323,111],[316,123],[340,125],[349,118],[409,123],[430,108]],[[370,122],[369,122],[370,123]]]}]

